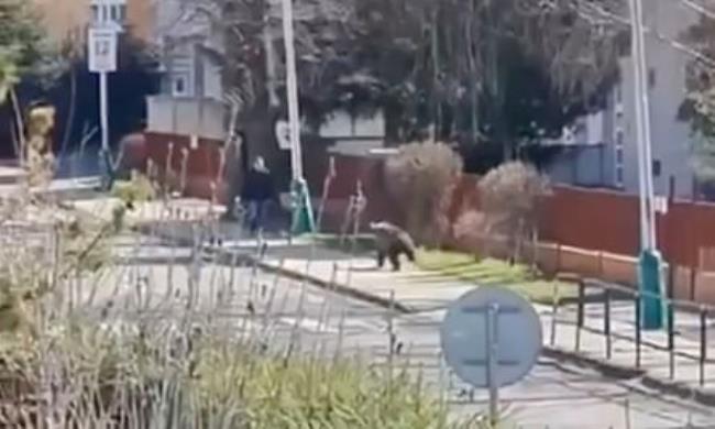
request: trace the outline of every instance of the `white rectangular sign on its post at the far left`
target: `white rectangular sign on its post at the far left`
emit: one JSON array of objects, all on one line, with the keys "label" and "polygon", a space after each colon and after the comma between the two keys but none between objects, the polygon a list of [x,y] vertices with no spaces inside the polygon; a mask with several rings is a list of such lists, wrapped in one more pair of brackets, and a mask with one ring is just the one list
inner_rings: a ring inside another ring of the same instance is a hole
[{"label": "white rectangular sign on its post at the far left", "polygon": [[105,166],[107,176],[105,184],[111,179],[111,152],[109,148],[109,88],[107,76],[117,70],[116,28],[99,26],[89,29],[89,72],[99,74],[99,122],[101,128],[100,166]]}]

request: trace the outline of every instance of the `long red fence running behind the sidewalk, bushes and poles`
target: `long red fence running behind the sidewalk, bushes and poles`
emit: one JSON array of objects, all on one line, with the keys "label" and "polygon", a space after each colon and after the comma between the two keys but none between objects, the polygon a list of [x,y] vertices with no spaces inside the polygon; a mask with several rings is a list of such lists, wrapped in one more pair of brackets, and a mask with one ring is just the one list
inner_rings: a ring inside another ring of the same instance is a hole
[{"label": "long red fence running behind the sidewalk, bushes and poles", "polygon": [[[172,166],[180,170],[182,148],[190,152],[187,194],[210,197],[210,184],[217,179],[222,142],[201,140],[190,148],[186,136],[145,133],[145,157],[163,169],[168,142],[174,143]],[[314,195],[322,191],[328,168],[324,152],[305,153],[305,170]],[[386,219],[400,222],[404,216],[399,198],[386,191],[383,160],[377,157],[337,156],[338,176],[333,180],[326,222],[334,228],[342,221],[346,200],[358,182],[369,199],[365,221]],[[477,177],[465,175],[455,186],[446,213],[454,224],[461,216],[479,210]],[[217,184],[219,197],[226,195],[226,180]],[[556,186],[541,208],[539,234],[543,242],[558,243],[588,251],[617,255],[636,255],[639,248],[638,199],[636,196],[607,191]],[[693,201],[671,201],[668,212],[658,216],[659,248],[666,258],[680,266],[715,267],[715,205]],[[710,257],[710,256],[713,257]],[[712,258],[713,261],[710,261]]]}]

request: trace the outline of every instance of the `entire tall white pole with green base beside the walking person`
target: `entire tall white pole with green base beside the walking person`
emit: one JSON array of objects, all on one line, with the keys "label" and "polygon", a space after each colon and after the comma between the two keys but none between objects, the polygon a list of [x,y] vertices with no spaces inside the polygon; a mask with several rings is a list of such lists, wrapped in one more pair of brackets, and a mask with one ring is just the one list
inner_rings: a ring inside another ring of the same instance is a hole
[{"label": "entire tall white pole with green base beside the walking person", "polygon": [[293,226],[292,232],[299,234],[315,231],[310,194],[302,175],[302,152],[300,147],[300,111],[298,105],[298,78],[293,31],[293,0],[283,0],[283,40],[286,51],[286,92],[288,103],[288,127],[290,139],[290,167],[293,169]]}]

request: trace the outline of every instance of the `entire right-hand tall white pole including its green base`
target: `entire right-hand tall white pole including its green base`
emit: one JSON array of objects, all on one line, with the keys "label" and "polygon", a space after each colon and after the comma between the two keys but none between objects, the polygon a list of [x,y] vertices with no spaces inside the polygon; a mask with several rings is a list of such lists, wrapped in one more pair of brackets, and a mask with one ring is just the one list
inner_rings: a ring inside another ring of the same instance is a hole
[{"label": "entire right-hand tall white pole including its green base", "polygon": [[650,111],[647,84],[644,9],[641,0],[629,0],[631,59],[636,107],[636,140],[638,144],[638,185],[640,200],[639,288],[642,296],[645,329],[660,329],[662,318],[662,258],[656,242],[656,209],[653,195]]}]

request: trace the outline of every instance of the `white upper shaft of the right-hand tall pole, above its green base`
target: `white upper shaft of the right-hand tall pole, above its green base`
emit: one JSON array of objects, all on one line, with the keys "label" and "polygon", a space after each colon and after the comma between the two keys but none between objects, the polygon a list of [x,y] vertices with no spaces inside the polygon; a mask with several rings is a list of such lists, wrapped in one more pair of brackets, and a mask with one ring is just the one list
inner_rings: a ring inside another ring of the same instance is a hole
[{"label": "white upper shaft of the right-hand tall pole, above its green base", "polygon": [[650,116],[646,80],[646,48],[644,42],[642,3],[630,0],[631,54],[636,107],[636,141],[638,144],[638,185],[640,196],[641,250],[656,249],[653,211],[652,155],[650,148]]}]

